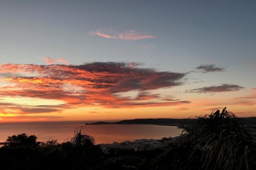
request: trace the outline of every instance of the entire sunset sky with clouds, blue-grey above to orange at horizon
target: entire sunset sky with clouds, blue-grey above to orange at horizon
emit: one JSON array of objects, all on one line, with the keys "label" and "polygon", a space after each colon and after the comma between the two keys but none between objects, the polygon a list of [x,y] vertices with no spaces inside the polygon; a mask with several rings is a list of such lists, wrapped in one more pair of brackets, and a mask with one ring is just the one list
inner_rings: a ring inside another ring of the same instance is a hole
[{"label": "entire sunset sky with clouds, blue-grey above to orange at horizon", "polygon": [[255,9],[0,0],[0,122],[256,116]]}]

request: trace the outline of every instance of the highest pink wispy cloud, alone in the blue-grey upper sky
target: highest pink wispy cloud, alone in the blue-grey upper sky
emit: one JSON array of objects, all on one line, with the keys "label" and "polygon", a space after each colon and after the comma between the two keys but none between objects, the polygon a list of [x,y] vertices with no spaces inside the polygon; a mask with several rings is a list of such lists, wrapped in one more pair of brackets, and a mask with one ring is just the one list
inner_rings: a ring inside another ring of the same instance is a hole
[{"label": "highest pink wispy cloud, alone in the blue-grey upper sky", "polygon": [[108,39],[124,39],[124,40],[140,40],[140,39],[149,39],[155,38],[155,36],[148,35],[147,33],[141,33],[135,30],[127,30],[121,33],[118,33],[112,29],[103,29],[91,31],[90,35],[96,35]]}]

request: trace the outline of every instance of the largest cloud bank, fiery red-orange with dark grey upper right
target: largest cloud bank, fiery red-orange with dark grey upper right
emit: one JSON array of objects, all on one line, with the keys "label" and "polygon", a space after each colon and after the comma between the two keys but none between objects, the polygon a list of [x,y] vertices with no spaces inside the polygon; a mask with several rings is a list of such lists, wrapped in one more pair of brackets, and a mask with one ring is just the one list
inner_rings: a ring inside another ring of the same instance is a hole
[{"label": "largest cloud bank, fiery red-orange with dark grey upper right", "polygon": [[[7,84],[0,87],[0,97],[54,99],[65,103],[54,107],[20,105],[15,107],[7,104],[3,106],[5,112],[16,109],[22,114],[60,112],[65,107],[151,107],[190,103],[187,100],[166,101],[158,94],[148,92],[148,90],[180,86],[186,73],[162,72],[139,66],[139,63],[116,62],[83,65],[4,64],[0,65],[0,74],[3,73],[6,77],[1,81]],[[21,75],[25,73],[30,76],[7,77],[9,75],[5,74],[7,72],[21,73]],[[134,90],[139,91],[136,99],[116,95]]]}]

